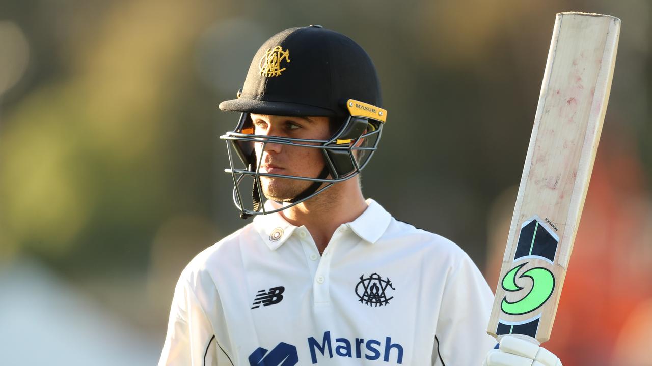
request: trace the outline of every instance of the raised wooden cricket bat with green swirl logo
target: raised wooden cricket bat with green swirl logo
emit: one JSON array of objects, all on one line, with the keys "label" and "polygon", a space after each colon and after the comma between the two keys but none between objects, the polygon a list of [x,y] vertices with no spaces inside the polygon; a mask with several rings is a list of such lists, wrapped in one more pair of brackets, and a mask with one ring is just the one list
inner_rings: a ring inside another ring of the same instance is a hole
[{"label": "raised wooden cricket bat with green swirl logo", "polygon": [[557,14],[487,332],[548,341],[607,108],[620,20]]}]

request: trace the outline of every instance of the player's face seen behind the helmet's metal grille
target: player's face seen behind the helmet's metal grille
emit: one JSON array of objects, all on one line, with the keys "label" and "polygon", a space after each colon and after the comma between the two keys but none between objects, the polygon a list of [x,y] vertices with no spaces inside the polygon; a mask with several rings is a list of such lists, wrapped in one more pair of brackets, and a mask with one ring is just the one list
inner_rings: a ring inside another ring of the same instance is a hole
[{"label": "player's face seen behind the helmet's metal grille", "polygon": [[[282,117],[251,115],[254,134],[297,139],[328,139],[327,117]],[[308,145],[308,144],[306,144]],[[323,153],[318,148],[296,147],[267,143],[256,144],[260,173],[317,178],[324,168]],[[265,197],[274,201],[288,201],[297,197],[312,182],[262,176],[261,186]]]}]

